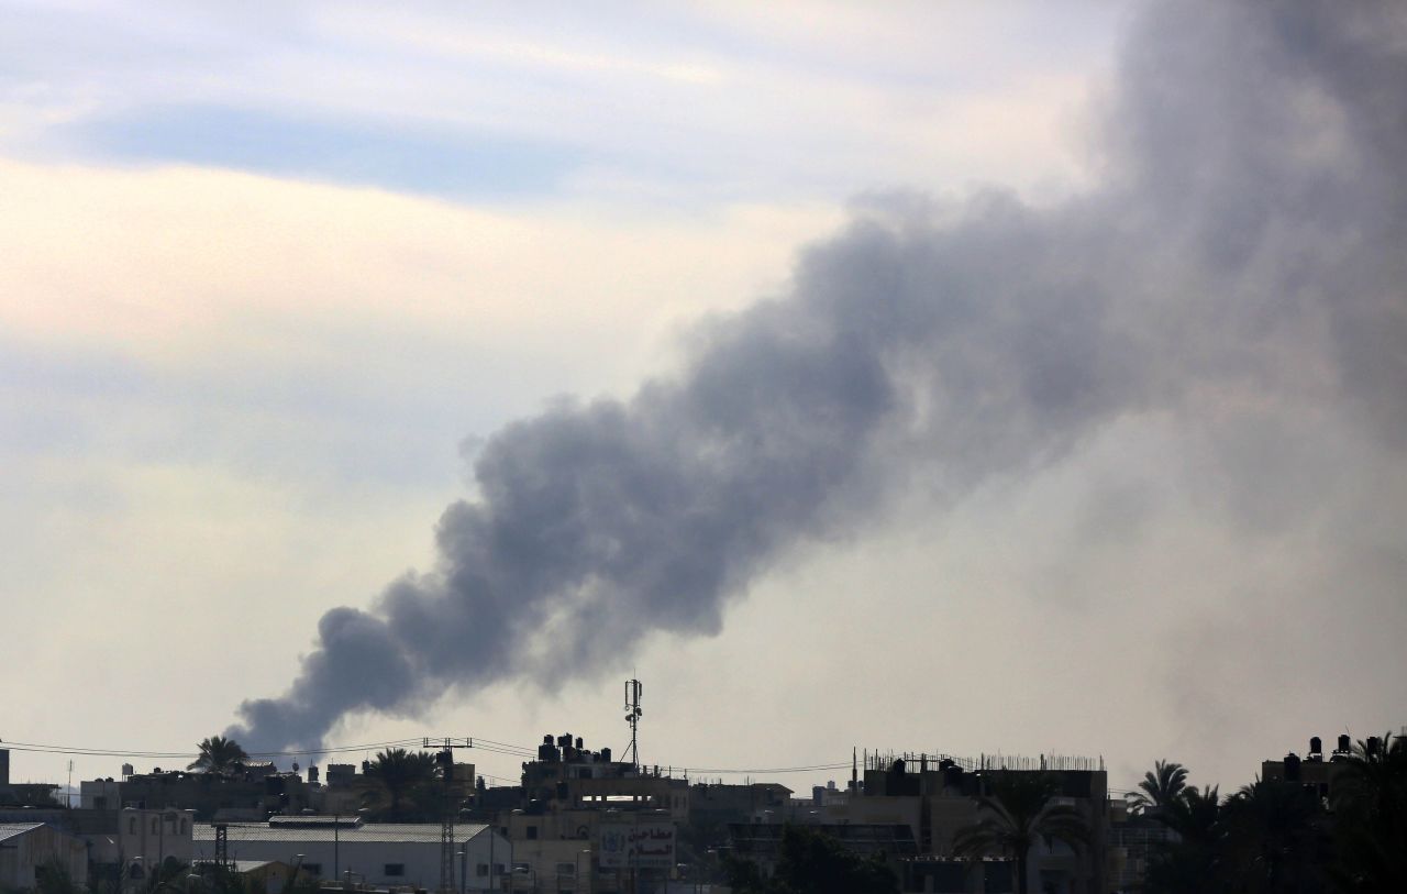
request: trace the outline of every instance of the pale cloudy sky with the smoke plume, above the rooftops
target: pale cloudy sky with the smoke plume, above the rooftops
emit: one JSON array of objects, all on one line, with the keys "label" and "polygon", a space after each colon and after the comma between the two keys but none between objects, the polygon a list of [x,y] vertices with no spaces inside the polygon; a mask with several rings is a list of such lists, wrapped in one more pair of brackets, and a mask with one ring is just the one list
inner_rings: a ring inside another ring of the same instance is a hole
[{"label": "pale cloudy sky with the smoke plume, above the rooftops", "polygon": [[7,742],[1407,724],[1400,8],[0,7]]}]

